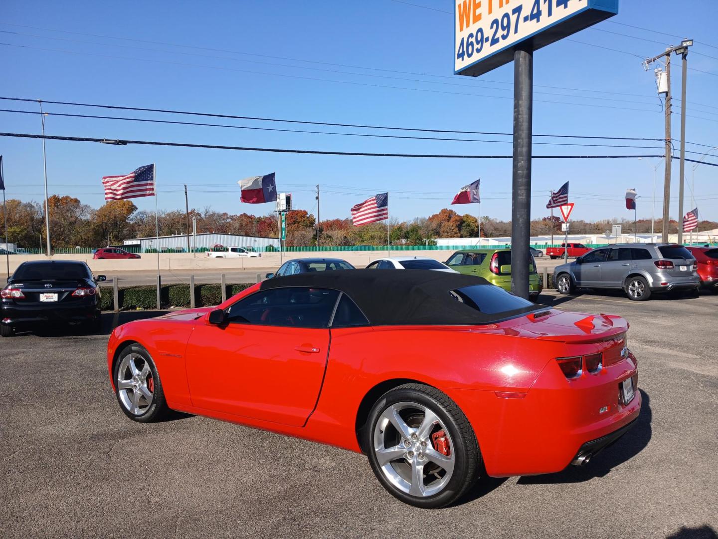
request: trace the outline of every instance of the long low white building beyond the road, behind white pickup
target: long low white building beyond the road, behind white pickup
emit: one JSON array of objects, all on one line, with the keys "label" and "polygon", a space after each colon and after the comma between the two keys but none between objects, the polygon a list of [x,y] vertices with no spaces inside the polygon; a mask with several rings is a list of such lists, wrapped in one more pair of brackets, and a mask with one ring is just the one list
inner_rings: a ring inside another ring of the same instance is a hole
[{"label": "long low white building beyond the road, behind white pickup", "polygon": [[[264,238],[261,236],[238,236],[236,234],[190,234],[190,247],[194,249],[212,249],[216,246],[222,247],[244,247],[250,251],[279,251],[279,239]],[[147,252],[148,250],[158,249],[160,252],[172,250],[187,252],[187,234],[177,234],[176,236],[159,236],[156,238],[134,238],[126,239],[123,247],[139,252]],[[274,249],[273,249],[274,248]]]}]

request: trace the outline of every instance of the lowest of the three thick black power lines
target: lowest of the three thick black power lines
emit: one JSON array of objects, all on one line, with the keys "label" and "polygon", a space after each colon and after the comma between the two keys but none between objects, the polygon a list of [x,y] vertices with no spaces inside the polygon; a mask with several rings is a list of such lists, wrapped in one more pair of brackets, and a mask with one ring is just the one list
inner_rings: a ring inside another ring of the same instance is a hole
[{"label": "lowest of the three thick black power lines", "polygon": [[[128,140],[128,139],[98,139],[93,137],[65,137],[61,135],[39,135],[29,133],[0,133],[0,137],[18,137],[24,139],[46,139],[65,140],[71,142],[100,142],[103,144],[114,144],[125,146],[127,144],[141,144],[148,146],[168,146],[183,148],[206,148],[206,149],[232,149],[244,152],[273,152],[289,154],[308,155],[348,155],[360,157],[424,157],[434,159],[513,159],[513,155],[446,155],[446,154],[395,154],[378,152],[335,152],[323,149],[286,149],[286,148],[259,148],[244,146],[226,146],[220,144],[190,144],[186,142],[159,142],[149,140]],[[634,159],[638,157],[663,157],[662,155],[533,155],[533,159]],[[690,160],[686,160],[690,161]],[[705,165],[713,165],[703,162]],[[714,165],[718,167],[718,164]]]}]

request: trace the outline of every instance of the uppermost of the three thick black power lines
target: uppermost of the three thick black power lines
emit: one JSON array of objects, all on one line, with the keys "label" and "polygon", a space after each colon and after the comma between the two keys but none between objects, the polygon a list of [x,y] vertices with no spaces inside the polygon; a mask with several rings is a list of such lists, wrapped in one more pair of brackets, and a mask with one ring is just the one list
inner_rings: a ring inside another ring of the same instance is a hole
[{"label": "uppermost of the three thick black power lines", "polygon": [[[292,120],[292,119],[280,119],[280,118],[262,118],[258,116],[237,116],[234,114],[217,114],[209,112],[196,112],[196,111],[177,111],[172,109],[148,109],[143,107],[134,106],[119,106],[119,105],[102,105],[97,103],[75,103],[71,101],[45,101],[31,99],[31,98],[17,98],[17,97],[0,97],[5,101],[22,101],[25,103],[49,103],[51,105],[68,105],[68,106],[85,106],[94,107],[98,109],[113,109],[122,111],[140,111],[140,112],[159,112],[163,114],[185,114],[187,116],[208,116],[211,118],[227,118],[227,119],[238,119],[238,120],[257,120],[257,121],[276,121],[287,124],[307,124],[307,125],[324,125],[332,127],[355,127],[359,129],[386,129],[391,131],[416,131],[424,133],[455,133],[455,134],[481,134],[481,135],[500,135],[512,137],[513,133],[509,132],[488,132],[488,131],[454,131],[450,129],[425,129],[425,128],[414,128],[414,127],[396,127],[396,126],[375,126],[365,124],[339,124],[327,121],[307,121],[307,120]],[[552,138],[569,138],[569,139],[605,139],[605,140],[651,140],[656,142],[664,142],[665,139],[657,138],[646,138],[646,137],[605,137],[595,135],[563,135],[563,134],[533,134],[533,137],[552,137]]]}]

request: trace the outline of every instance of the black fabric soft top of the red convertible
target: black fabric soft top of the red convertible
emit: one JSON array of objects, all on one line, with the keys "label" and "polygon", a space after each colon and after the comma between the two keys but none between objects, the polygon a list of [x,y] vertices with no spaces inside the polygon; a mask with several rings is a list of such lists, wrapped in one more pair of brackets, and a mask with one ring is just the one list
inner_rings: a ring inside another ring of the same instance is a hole
[{"label": "black fabric soft top of the red convertible", "polygon": [[260,290],[284,287],[329,288],[344,292],[372,326],[473,325],[505,320],[538,308],[482,313],[452,298],[449,292],[468,286],[493,287],[474,275],[432,270],[327,270],[274,277]]}]

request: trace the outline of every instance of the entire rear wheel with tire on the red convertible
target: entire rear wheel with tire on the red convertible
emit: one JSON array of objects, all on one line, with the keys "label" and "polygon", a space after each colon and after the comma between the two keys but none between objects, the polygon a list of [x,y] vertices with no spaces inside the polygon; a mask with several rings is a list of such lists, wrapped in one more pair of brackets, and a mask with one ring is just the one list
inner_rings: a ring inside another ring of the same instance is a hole
[{"label": "entire rear wheel with tire on the red convertible", "polygon": [[386,392],[372,407],[364,436],[379,482],[414,507],[445,507],[478,478],[481,453],[474,430],[434,387],[404,384]]}]

